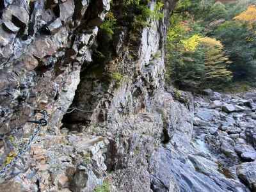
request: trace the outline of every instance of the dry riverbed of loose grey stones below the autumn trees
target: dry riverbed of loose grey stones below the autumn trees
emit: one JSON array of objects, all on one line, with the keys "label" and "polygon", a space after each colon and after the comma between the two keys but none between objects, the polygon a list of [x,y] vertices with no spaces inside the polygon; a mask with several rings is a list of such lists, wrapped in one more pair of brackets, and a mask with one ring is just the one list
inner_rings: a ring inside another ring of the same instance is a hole
[{"label": "dry riverbed of loose grey stones below the autumn trees", "polygon": [[225,177],[256,190],[256,93],[195,97],[195,143],[205,148]]}]

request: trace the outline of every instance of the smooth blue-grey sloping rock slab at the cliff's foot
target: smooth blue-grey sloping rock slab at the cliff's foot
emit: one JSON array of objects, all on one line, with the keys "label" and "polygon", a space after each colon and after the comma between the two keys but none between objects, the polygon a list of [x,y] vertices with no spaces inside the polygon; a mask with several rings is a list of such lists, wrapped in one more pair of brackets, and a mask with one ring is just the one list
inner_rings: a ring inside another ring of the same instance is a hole
[{"label": "smooth blue-grey sloping rock slab at the cliff's foot", "polygon": [[[216,172],[218,164],[200,156],[189,156],[189,163],[173,159],[165,148],[152,155],[149,170],[152,191],[246,191],[243,184]],[[198,170],[198,171],[196,171]],[[221,186],[220,186],[221,184]],[[149,191],[149,190],[148,190]]]}]

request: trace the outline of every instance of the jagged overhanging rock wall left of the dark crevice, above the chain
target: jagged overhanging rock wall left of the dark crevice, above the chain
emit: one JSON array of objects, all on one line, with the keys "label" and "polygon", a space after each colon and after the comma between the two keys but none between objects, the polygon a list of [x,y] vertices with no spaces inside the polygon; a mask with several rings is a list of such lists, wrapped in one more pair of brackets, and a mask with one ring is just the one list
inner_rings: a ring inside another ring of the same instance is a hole
[{"label": "jagged overhanging rock wall left of the dark crevice, above the chain", "polygon": [[100,25],[93,20],[102,21],[108,9],[109,1],[4,1],[1,134],[22,127],[33,109],[57,115],[51,126],[58,127],[74,97],[81,65],[91,60],[90,46]]}]

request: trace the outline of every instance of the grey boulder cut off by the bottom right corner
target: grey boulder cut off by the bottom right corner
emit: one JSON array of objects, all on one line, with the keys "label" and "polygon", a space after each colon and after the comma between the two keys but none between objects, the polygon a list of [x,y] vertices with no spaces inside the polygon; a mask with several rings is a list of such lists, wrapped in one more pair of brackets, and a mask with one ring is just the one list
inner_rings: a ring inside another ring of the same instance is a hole
[{"label": "grey boulder cut off by the bottom right corner", "polygon": [[249,186],[252,191],[256,191],[256,162],[242,163],[237,166],[237,176]]}]

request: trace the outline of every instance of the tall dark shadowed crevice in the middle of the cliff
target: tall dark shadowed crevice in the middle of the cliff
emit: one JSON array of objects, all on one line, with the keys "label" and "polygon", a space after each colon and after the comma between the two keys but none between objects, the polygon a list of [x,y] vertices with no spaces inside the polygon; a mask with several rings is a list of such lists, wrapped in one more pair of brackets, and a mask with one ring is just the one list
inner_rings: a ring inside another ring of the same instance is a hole
[{"label": "tall dark shadowed crevice in the middle of the cliff", "polygon": [[[99,31],[97,42],[100,42],[100,44],[92,53],[93,61],[91,63],[85,62],[81,68],[81,81],[77,86],[74,100],[70,106],[71,109],[78,108],[88,112],[74,110],[72,113],[67,113],[63,116],[63,127],[74,127],[74,124],[89,125],[93,109],[97,107],[99,100],[108,92],[111,74],[106,70],[106,65],[112,58],[112,40],[106,36],[104,31]],[[98,122],[106,120],[106,115],[102,110],[97,111],[97,114]]]}]

